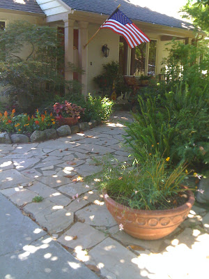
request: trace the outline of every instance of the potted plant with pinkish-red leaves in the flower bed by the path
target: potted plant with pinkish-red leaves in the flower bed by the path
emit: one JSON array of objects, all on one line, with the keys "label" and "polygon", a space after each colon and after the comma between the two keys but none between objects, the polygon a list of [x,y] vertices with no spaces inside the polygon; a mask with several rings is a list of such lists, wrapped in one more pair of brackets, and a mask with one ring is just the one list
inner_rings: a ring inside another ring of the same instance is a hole
[{"label": "potted plant with pinkish-red leaves in the flower bed by the path", "polygon": [[55,103],[53,108],[56,113],[56,120],[61,125],[66,124],[69,126],[75,125],[85,110],[79,105],[69,103],[67,100],[64,103]]}]

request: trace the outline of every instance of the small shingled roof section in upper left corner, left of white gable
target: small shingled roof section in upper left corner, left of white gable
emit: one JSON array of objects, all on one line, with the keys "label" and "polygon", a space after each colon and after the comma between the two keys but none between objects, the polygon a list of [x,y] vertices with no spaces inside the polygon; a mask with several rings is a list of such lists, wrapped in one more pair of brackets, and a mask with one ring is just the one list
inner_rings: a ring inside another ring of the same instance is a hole
[{"label": "small shingled roof section in upper left corner, left of white gable", "polygon": [[44,14],[36,0],[1,0],[0,8]]}]

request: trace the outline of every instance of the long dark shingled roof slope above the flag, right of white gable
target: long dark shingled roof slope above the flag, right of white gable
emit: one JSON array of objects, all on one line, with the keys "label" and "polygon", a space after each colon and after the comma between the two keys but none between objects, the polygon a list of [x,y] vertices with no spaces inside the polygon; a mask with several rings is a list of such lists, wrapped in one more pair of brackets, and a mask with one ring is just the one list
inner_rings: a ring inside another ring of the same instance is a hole
[{"label": "long dark shingled roof slope above the flag, right of white gable", "polygon": [[157,13],[150,10],[150,8],[141,7],[130,3],[129,0],[62,0],[70,8],[75,10],[82,10],[86,12],[99,13],[104,15],[111,15],[119,4],[120,10],[127,15],[131,20],[138,20],[140,22],[148,22],[152,24],[160,24],[169,27],[177,27],[183,29],[194,29],[192,24],[178,20],[175,17]]}]

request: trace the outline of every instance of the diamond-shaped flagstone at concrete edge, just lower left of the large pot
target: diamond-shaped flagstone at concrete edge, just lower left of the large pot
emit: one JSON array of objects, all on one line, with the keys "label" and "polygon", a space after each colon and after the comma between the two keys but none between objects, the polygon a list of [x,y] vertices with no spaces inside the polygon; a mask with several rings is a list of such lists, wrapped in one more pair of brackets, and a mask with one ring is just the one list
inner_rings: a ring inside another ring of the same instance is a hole
[{"label": "diamond-shaped flagstone at concrete edge, just lower left of the large pot", "polygon": [[65,232],[58,241],[68,246],[69,248],[76,249],[80,246],[82,249],[91,248],[107,236],[103,232],[94,229],[90,225],[77,222],[67,232]]}]

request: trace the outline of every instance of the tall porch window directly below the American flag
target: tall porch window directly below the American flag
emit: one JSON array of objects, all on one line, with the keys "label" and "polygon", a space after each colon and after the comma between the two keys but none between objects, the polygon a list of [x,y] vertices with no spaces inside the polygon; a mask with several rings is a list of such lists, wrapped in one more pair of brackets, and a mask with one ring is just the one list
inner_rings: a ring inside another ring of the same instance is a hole
[{"label": "tall porch window directly below the American flag", "polygon": [[[123,74],[136,76],[156,75],[157,40],[150,40],[150,43],[141,43],[141,45],[134,47],[132,50],[127,50],[127,43],[123,42],[123,37],[121,38],[119,43],[119,65],[123,68]],[[125,50],[127,51],[125,52]]]}]

